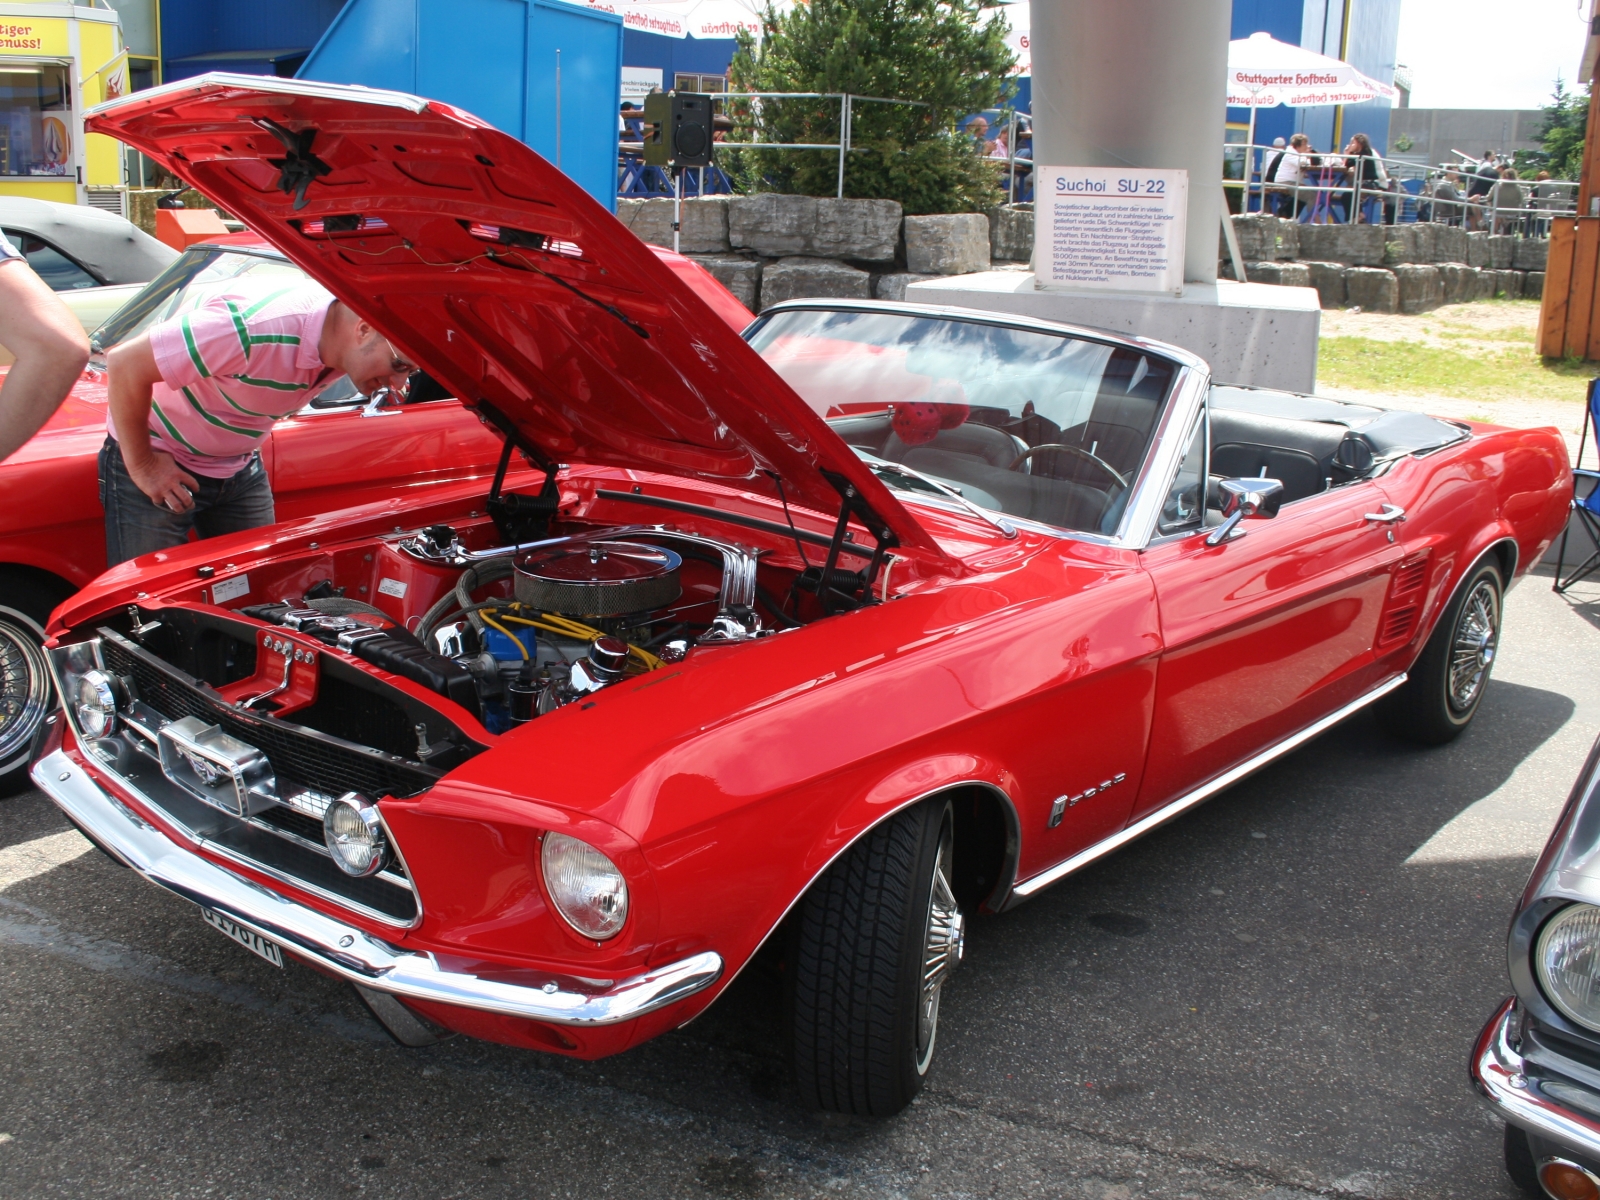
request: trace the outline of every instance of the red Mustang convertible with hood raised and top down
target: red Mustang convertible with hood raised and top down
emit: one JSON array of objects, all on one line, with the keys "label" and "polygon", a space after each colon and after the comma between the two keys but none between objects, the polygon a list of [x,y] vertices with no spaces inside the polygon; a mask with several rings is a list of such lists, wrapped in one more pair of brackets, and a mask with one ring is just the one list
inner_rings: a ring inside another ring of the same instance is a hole
[{"label": "red Mustang convertible with hood raised and top down", "polygon": [[37,784],[406,1043],[611,1054],[766,946],[802,1093],[893,1114],[971,914],[1374,701],[1448,741],[1566,515],[1555,430],[1157,342],[827,301],[741,339],[411,96],[211,75],[91,128],[504,438],[486,490],[128,563],[50,627]]}]

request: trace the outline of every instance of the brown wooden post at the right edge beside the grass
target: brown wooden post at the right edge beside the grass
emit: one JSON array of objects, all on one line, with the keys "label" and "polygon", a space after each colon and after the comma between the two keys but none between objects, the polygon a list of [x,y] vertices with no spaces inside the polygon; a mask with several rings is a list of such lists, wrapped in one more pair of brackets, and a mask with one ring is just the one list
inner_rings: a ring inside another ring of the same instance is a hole
[{"label": "brown wooden post at the right edge beside the grass", "polygon": [[1600,86],[1589,96],[1578,216],[1550,222],[1538,346],[1546,358],[1600,358]]}]

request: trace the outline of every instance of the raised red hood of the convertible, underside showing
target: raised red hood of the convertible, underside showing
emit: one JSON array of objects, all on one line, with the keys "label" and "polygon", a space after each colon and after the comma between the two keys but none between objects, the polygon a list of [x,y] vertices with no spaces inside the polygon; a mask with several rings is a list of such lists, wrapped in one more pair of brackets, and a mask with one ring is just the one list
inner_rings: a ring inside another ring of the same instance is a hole
[{"label": "raised red hood of the convertible, underside showing", "polygon": [[[200,75],[88,128],[194,184],[550,462],[669,472],[926,531],[704,301],[571,179],[394,91]],[[875,523],[875,522],[874,522]],[[878,533],[875,530],[875,533]]]}]

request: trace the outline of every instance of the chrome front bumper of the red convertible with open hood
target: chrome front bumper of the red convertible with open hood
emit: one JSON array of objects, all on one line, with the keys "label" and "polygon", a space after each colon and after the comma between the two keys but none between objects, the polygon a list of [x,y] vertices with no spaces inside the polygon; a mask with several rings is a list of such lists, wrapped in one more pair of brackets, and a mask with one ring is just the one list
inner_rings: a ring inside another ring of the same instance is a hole
[{"label": "chrome front bumper of the red convertible with open hood", "polygon": [[184,850],[61,750],[42,755],[32,776],[78,829],[150,883],[362,987],[554,1026],[611,1026],[694,995],[722,976],[722,955],[710,950],[594,990],[560,976],[525,986],[446,971],[430,954],[373,938]]}]

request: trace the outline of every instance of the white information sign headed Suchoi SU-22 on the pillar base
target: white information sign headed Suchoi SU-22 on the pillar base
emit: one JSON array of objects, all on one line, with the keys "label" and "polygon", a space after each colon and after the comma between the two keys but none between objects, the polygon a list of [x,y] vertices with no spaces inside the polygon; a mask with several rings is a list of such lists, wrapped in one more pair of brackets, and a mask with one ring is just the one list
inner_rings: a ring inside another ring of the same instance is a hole
[{"label": "white information sign headed Suchoi SU-22 on the pillar base", "polygon": [[1040,286],[1184,290],[1187,171],[1040,166],[1034,179]]}]

